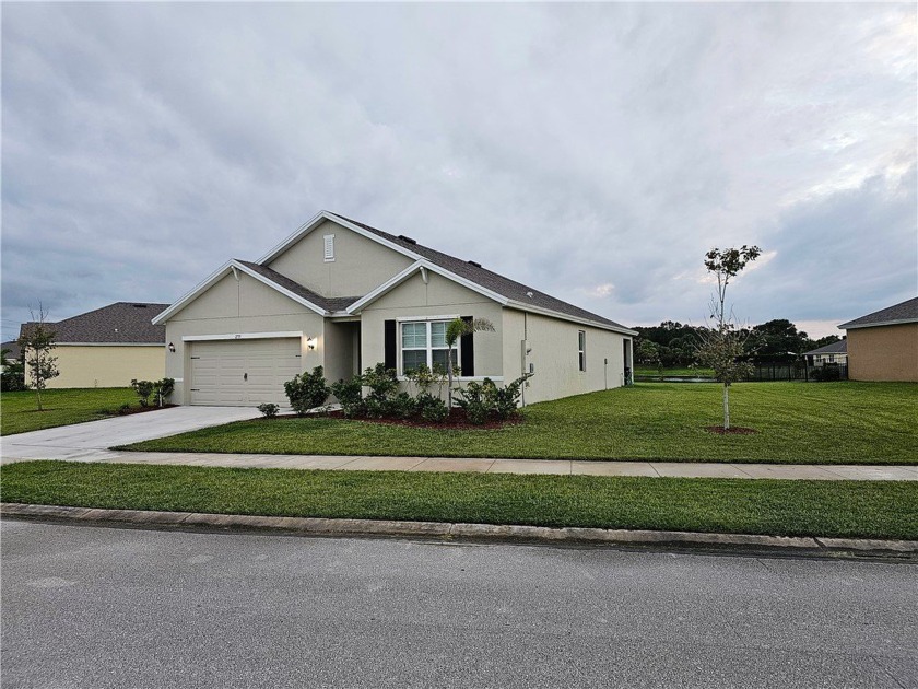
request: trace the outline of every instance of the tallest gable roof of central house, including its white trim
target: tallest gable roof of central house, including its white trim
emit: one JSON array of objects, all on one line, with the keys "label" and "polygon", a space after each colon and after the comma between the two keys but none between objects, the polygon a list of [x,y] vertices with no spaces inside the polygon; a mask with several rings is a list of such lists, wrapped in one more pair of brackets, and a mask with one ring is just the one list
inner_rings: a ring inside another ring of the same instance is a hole
[{"label": "tallest gable roof of central house, including its white trim", "polygon": [[[318,213],[308,223],[302,225],[295,233],[262,256],[258,262],[262,266],[271,262],[305,235],[309,234],[309,232],[318,227],[325,220],[330,220],[337,224],[353,230],[357,234],[368,237],[379,244],[382,244],[384,246],[388,246],[399,254],[412,258],[415,261],[421,261],[416,266],[412,266],[403,271],[403,273],[399,273],[399,276],[393,278],[393,280],[390,280],[389,283],[387,283],[389,284],[388,289],[399,284],[407,275],[413,273],[419,268],[429,267],[435,270],[438,268],[439,270],[436,270],[436,272],[446,275],[446,277],[454,280],[458,278],[458,282],[464,283],[466,287],[470,287],[472,289],[479,288],[478,291],[487,294],[489,296],[493,297],[496,295],[499,297],[498,301],[501,301],[502,304],[511,308],[546,313],[553,316],[562,316],[576,319],[578,322],[590,323],[602,328],[616,330],[627,335],[637,335],[634,330],[631,330],[610,318],[605,318],[599,314],[595,314],[568,302],[564,302],[534,288],[522,284],[521,282],[505,278],[499,273],[487,270],[476,262],[456,258],[455,256],[450,256],[448,254],[444,254],[443,252],[424,246],[423,244],[419,244],[411,237],[390,234],[372,225],[367,225],[360,221],[329,211],[321,211]],[[380,285],[380,288],[381,287],[385,285]],[[374,290],[370,294],[376,292],[377,291]],[[381,293],[385,293],[385,291]],[[378,296],[379,294],[377,293],[374,295]],[[366,299],[366,296],[364,299]]]}]

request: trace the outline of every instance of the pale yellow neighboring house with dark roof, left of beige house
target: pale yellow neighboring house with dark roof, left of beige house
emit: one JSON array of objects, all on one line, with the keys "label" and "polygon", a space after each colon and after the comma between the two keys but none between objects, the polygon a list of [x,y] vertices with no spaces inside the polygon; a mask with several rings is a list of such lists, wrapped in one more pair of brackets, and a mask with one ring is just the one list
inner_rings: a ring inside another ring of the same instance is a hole
[{"label": "pale yellow neighboring house with dark roof, left of beige house", "polygon": [[[127,387],[131,378],[158,381],[165,375],[166,329],[153,325],[168,304],[116,302],[58,323],[54,357],[60,375],[49,388]],[[22,326],[27,331],[33,323]],[[26,381],[28,370],[26,367]]]}]

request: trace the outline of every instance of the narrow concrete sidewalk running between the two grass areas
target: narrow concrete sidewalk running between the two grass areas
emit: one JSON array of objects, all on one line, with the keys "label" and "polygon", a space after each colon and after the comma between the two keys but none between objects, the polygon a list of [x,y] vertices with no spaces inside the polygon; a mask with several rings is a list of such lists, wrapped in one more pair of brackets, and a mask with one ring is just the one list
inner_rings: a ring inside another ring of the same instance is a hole
[{"label": "narrow concrete sidewalk running between the two grass areas", "polygon": [[366,457],[329,455],[228,455],[217,453],[117,452],[82,448],[56,456],[28,453],[8,456],[0,464],[28,459],[63,459],[125,464],[167,464],[197,467],[262,469],[337,469],[348,471],[472,471],[478,474],[548,474],[555,476],[647,476],[681,478],[805,479],[918,481],[918,466],[719,464],[690,462],[587,462],[572,459],[482,459],[448,457]]}]

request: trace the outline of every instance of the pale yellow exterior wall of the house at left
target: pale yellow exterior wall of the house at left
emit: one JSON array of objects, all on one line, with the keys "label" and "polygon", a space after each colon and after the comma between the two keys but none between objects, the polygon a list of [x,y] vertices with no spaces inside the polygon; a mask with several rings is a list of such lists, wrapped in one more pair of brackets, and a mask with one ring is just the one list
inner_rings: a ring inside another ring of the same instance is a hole
[{"label": "pale yellow exterior wall of the house at left", "polygon": [[163,344],[58,344],[52,355],[60,375],[47,387],[128,387],[132,378],[158,381],[166,374],[165,351]]}]

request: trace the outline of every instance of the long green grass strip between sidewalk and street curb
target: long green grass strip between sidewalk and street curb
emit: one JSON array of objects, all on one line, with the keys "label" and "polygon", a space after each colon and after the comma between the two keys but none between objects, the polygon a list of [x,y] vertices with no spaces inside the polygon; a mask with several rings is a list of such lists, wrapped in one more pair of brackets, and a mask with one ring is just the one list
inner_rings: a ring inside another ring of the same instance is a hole
[{"label": "long green grass strip between sidewalk and street curb", "polygon": [[271,516],[918,538],[918,483],[30,462],[5,502]]}]

